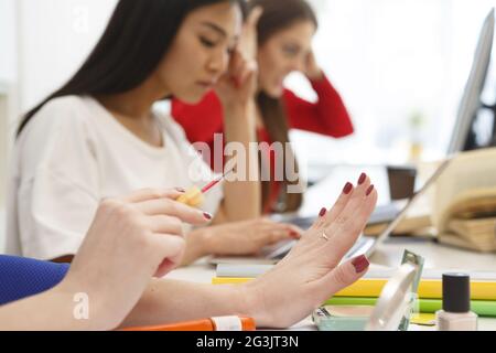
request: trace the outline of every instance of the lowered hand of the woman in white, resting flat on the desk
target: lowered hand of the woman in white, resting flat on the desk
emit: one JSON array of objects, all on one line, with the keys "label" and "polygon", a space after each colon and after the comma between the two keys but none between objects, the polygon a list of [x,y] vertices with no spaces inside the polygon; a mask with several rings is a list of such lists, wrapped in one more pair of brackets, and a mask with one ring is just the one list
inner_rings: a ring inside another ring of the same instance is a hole
[{"label": "lowered hand of the woman in white, resting flat on the desk", "polygon": [[205,228],[204,246],[212,255],[257,255],[265,246],[299,239],[302,231],[267,218],[235,222]]}]

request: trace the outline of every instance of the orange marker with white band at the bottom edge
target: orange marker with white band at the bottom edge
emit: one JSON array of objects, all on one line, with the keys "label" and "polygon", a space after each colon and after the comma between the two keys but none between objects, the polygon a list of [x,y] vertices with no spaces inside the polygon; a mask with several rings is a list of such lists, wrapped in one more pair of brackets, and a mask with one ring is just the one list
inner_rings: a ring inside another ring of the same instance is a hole
[{"label": "orange marker with white band at the bottom edge", "polygon": [[179,323],[139,327],[122,331],[255,331],[255,320],[248,317],[216,317]]}]

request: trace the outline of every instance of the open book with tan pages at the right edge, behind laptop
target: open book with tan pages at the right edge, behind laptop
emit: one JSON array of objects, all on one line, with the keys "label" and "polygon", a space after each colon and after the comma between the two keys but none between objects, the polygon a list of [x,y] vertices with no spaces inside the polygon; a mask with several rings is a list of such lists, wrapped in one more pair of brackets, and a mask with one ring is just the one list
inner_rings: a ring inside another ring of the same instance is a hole
[{"label": "open book with tan pages at the right edge, behind laptop", "polygon": [[435,184],[432,224],[441,243],[496,252],[496,149],[454,158]]}]

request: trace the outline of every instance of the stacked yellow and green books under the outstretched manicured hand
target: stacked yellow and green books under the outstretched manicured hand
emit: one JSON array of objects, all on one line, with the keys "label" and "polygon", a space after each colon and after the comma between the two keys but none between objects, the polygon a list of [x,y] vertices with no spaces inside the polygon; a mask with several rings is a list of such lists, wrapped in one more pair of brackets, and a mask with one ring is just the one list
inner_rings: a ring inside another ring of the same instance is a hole
[{"label": "stacked yellow and green books under the outstretched manicured hand", "polygon": [[[273,265],[217,266],[214,285],[244,284],[270,270]],[[392,275],[390,270],[369,270],[354,285],[330,298],[330,306],[374,306],[384,286]],[[496,317],[496,272],[470,272],[472,311],[479,317]],[[424,270],[419,285],[419,312],[434,313],[442,308],[442,271]]]}]

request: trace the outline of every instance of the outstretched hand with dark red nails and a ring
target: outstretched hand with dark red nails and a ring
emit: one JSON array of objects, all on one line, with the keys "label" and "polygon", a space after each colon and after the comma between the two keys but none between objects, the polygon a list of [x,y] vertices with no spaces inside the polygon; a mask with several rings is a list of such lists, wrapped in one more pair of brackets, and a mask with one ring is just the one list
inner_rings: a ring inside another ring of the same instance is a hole
[{"label": "outstretched hand with dark red nails and a ring", "polygon": [[290,327],[365,275],[368,269],[365,256],[339,265],[377,202],[369,179],[364,174],[360,181],[354,190],[347,185],[331,211],[324,214],[323,210],[315,224],[271,271],[240,287],[248,314],[256,318],[258,327]]}]

